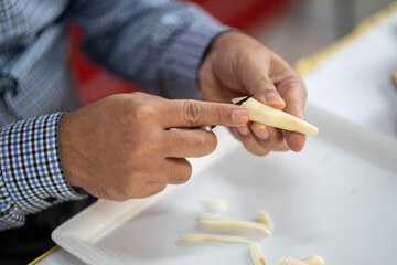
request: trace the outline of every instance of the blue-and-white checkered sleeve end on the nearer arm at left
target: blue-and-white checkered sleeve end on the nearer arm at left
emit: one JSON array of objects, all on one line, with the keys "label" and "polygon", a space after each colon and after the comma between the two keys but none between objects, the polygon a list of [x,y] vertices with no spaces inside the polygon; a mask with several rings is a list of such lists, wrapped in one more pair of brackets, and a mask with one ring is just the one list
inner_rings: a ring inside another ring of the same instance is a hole
[{"label": "blue-and-white checkered sleeve end on the nearer arm at left", "polygon": [[25,214],[82,199],[68,184],[61,163],[62,113],[21,120],[0,134],[0,230],[21,226]]}]

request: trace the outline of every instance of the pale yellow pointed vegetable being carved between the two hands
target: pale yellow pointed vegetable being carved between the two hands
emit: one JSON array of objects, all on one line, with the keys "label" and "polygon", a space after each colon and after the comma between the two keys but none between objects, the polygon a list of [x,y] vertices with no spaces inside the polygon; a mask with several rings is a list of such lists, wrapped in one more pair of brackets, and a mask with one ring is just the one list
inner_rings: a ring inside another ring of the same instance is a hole
[{"label": "pale yellow pointed vegetable being carved between the two hands", "polygon": [[[233,103],[242,100],[244,97],[233,98]],[[248,112],[249,120],[272,126],[279,129],[298,131],[304,135],[316,135],[319,129],[280,109],[269,107],[255,98],[249,98],[242,104],[242,107]]]}]

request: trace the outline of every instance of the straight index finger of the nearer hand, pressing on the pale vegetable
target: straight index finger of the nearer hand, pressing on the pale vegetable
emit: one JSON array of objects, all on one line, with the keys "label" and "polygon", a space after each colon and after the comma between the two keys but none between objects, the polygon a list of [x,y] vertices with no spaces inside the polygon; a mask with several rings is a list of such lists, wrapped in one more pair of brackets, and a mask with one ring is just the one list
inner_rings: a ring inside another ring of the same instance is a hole
[{"label": "straight index finger of the nearer hand, pressing on the pale vegetable", "polygon": [[200,100],[168,100],[160,106],[167,114],[164,128],[198,127],[205,125],[238,126],[248,123],[247,112],[233,104]]}]

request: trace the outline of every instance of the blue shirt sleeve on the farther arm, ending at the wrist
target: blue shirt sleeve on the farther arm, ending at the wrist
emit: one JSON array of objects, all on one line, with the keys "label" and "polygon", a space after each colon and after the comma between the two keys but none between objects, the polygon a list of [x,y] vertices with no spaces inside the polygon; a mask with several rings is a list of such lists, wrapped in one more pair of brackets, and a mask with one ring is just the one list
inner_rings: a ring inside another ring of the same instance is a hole
[{"label": "blue shirt sleeve on the farther arm, ending at the wrist", "polygon": [[83,50],[92,60],[170,98],[197,97],[202,56],[229,30],[200,8],[172,1],[79,1],[73,19],[85,30]]}]

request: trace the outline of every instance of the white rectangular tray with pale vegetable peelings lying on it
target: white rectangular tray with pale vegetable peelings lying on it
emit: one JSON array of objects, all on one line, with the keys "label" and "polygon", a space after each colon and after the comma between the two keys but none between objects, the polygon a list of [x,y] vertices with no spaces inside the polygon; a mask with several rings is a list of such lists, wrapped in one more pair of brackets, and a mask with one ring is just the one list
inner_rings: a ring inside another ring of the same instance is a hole
[{"label": "white rectangular tray with pale vegetable peelings lying on it", "polygon": [[254,157],[219,128],[217,151],[192,161],[186,184],[146,200],[100,200],[52,237],[97,265],[250,264],[245,245],[181,241],[184,233],[213,232],[197,224],[204,197],[226,201],[226,215],[254,220],[258,210],[269,212],[275,231],[260,241],[268,265],[278,264],[278,257],[312,254],[326,264],[391,264],[397,252],[396,139],[314,106],[307,117],[320,134],[309,137],[301,153]]}]

